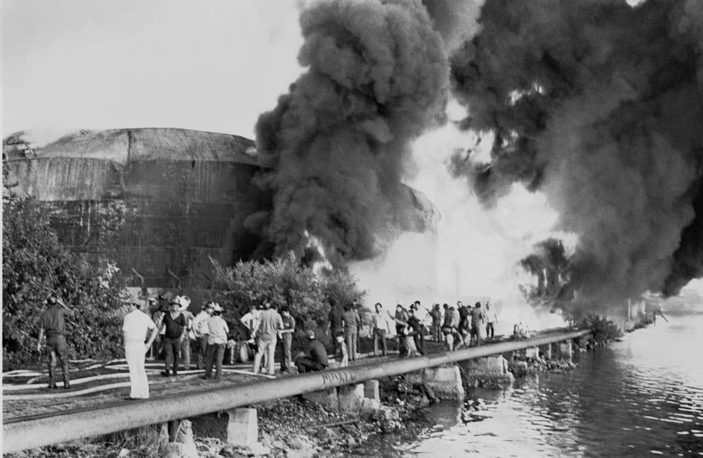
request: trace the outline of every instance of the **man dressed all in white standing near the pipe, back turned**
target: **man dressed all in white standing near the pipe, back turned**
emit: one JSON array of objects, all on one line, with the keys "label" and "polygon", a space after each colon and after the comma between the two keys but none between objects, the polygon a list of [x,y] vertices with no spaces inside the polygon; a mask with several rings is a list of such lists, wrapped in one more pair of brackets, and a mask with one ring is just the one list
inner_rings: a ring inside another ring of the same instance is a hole
[{"label": "man dressed all in white standing near the pipe, back turned", "polygon": [[144,369],[146,351],[156,339],[156,325],[149,315],[141,311],[141,304],[129,303],[130,312],[124,315],[122,337],[124,339],[124,358],[129,367],[129,398],[146,399],[149,397],[149,381]]}]

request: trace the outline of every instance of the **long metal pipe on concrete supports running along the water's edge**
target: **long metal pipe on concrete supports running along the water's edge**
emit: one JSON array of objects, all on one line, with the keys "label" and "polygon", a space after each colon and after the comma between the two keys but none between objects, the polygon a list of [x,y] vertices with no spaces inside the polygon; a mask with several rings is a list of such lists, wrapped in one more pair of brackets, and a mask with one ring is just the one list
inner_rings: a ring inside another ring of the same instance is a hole
[{"label": "long metal pipe on concrete supports running along the water's edge", "polygon": [[261,403],[266,400],[288,398],[310,391],[405,374],[450,362],[576,339],[586,334],[590,334],[590,331],[561,332],[534,339],[491,343],[458,351],[372,362],[340,369],[299,374],[294,377],[254,381],[219,388],[207,387],[198,391],[179,393],[171,398],[130,401],[109,407],[82,409],[80,412],[69,411],[39,418],[17,419],[3,424],[3,452],[19,452],[69,440],[125,431],[139,426],[197,417],[198,415]]}]

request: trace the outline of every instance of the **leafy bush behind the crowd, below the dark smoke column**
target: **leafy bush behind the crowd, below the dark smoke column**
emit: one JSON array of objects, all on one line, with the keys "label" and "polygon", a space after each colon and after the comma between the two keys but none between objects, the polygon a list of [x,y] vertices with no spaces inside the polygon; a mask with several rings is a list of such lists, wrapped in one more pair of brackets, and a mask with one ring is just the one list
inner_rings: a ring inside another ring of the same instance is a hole
[{"label": "leafy bush behind the crowd, below the dark smoke column", "polygon": [[[304,331],[313,329],[323,343],[328,343],[324,329],[328,325],[327,299],[337,303],[351,303],[363,298],[354,277],[340,270],[315,273],[302,265],[290,252],[272,261],[240,261],[232,267],[215,266],[214,288],[216,301],[224,306],[224,318],[239,323],[252,303],[272,301],[287,305],[295,318],[297,339]],[[240,338],[244,338],[244,334]]]}]

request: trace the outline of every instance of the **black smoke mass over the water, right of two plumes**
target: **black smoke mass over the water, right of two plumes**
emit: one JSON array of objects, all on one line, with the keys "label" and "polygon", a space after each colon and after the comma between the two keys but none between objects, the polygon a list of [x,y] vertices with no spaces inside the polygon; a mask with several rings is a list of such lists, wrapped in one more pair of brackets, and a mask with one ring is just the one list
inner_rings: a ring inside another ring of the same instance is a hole
[{"label": "black smoke mass over the water, right of two plumes", "polygon": [[486,0],[479,25],[453,87],[495,143],[453,170],[489,206],[542,190],[578,235],[568,258],[551,241],[524,260],[557,263],[538,295],[593,306],[703,276],[703,2]]}]

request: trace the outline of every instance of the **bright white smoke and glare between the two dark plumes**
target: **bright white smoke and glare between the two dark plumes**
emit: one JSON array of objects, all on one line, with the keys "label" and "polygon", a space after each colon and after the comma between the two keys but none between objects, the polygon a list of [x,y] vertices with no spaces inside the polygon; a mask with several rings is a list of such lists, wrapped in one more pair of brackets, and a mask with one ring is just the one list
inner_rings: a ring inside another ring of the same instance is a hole
[{"label": "bright white smoke and glare between the two dark plumes", "polygon": [[[465,113],[450,103],[447,115],[460,119]],[[350,269],[367,290],[368,304],[380,301],[389,308],[398,301],[420,300],[429,307],[435,302],[490,299],[498,313],[499,334],[510,333],[517,322],[531,329],[564,325],[558,313],[534,310],[519,289],[534,277],[517,263],[532,252],[534,244],[554,235],[557,214],[546,197],[516,184],[494,209],[485,209],[466,181],[451,176],[447,169],[458,149],[475,145],[470,154],[480,157],[489,154],[492,141],[461,131],[453,123],[415,140],[415,171],[406,184],[424,192],[439,209],[437,237],[405,233],[381,259],[353,263]]]}]

